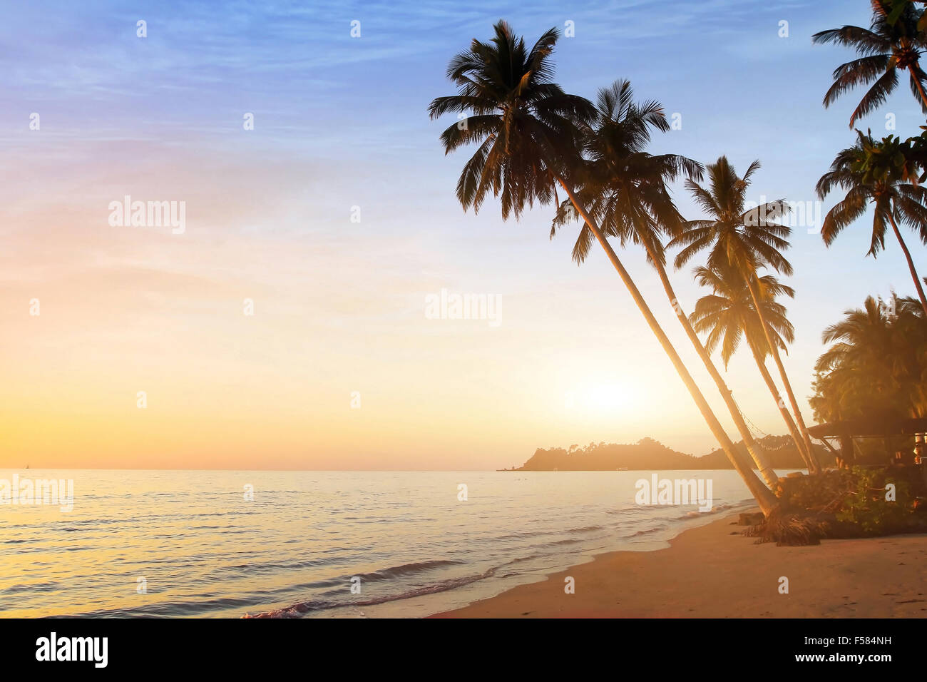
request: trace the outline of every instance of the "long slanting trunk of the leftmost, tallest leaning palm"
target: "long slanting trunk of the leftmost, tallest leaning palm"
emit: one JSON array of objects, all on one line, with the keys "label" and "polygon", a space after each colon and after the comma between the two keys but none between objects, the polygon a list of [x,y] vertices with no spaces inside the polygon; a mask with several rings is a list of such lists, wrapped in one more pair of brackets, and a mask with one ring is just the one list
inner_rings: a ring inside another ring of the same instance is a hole
[{"label": "long slanting trunk of the leftmost, tallest leaning palm", "polygon": [[660,327],[660,324],[656,321],[654,314],[651,312],[650,308],[647,306],[647,302],[643,300],[641,296],[641,291],[638,290],[637,285],[634,284],[634,280],[631,279],[628,271],[625,269],[625,266],[618,260],[616,252],[612,249],[611,244],[608,243],[608,240],[602,234],[602,230],[599,229],[599,225],[596,225],[595,221],[592,220],[589,213],[579,204],[576,194],[573,190],[570,189],[559,176],[554,176],[557,183],[564,188],[566,196],[570,198],[570,201],[573,203],[573,207],[577,210],[579,215],[582,216],[583,220],[586,221],[586,225],[589,225],[592,234],[595,235],[595,238],[598,240],[599,244],[602,246],[605,254],[608,256],[608,260],[611,261],[612,265],[615,266],[615,269],[618,272],[618,276],[621,277],[621,280],[625,283],[625,286],[628,288],[631,298],[634,299],[634,302],[637,303],[638,308],[641,310],[641,314],[644,316],[644,319],[647,321],[647,325],[651,328],[651,331],[654,332],[657,341],[660,341],[660,345],[663,346],[663,350],[669,356],[670,361],[673,363],[673,367],[676,368],[679,378],[686,385],[686,388],[689,390],[692,395],[692,399],[695,401],[695,405],[698,406],[699,411],[702,413],[702,417],[705,418],[705,422],[708,424],[708,428],[717,438],[717,442],[721,445],[725,454],[730,459],[730,463],[733,465],[734,469],[741,475],[743,483],[746,483],[747,489],[750,491],[750,494],[756,498],[756,503],[759,505],[759,508],[763,511],[763,514],[769,517],[770,514],[777,512],[780,508],[779,499],[776,495],[772,494],[772,491],[763,484],[756,477],[756,473],[744,464],[740,454],[737,452],[737,449],[734,447],[734,444],[730,442],[728,434],[725,433],[720,422],[715,417],[715,414],[711,411],[711,407],[705,401],[705,396],[699,390],[698,385],[692,380],[692,375],[689,374],[689,370],[682,363],[682,360],[679,358],[679,354],[676,353],[676,349],[673,348],[673,344],[667,338],[666,333],[663,331],[663,328]]}]

